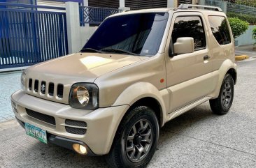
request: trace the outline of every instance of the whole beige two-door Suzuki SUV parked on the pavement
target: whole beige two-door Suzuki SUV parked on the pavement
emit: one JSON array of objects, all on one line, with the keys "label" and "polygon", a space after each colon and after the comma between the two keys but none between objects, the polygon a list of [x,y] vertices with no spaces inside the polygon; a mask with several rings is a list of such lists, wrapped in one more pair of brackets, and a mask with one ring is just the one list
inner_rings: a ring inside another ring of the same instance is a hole
[{"label": "whole beige two-door Suzuki SUV parked on the pavement", "polygon": [[208,100],[215,114],[229,111],[234,38],[220,8],[119,13],[80,52],[27,68],[21,82],[11,100],[27,135],[145,167],[164,123]]}]

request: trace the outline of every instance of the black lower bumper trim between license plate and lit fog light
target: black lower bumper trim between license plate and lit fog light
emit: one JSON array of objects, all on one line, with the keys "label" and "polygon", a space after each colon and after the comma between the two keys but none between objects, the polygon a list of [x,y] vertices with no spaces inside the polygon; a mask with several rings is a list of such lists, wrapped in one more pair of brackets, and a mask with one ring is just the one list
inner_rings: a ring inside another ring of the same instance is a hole
[{"label": "black lower bumper trim between license plate and lit fog light", "polygon": [[87,144],[85,144],[84,142],[80,142],[80,141],[77,141],[77,140],[68,139],[68,138],[64,138],[64,137],[59,137],[59,136],[56,136],[56,135],[51,135],[50,133],[47,133],[47,134],[49,135],[48,136],[48,142],[50,142],[51,144],[55,144],[57,146],[62,146],[64,148],[68,148],[72,151],[74,151],[73,150],[73,144],[81,144],[81,145],[86,147],[87,155],[97,156],[96,154],[94,154],[92,152],[92,150],[89,148],[89,146],[87,146]]}]

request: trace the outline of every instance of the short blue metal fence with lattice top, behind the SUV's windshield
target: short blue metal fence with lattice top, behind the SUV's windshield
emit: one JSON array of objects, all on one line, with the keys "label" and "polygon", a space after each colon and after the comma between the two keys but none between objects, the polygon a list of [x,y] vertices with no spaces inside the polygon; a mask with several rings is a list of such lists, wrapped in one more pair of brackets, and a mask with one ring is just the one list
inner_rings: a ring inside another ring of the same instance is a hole
[{"label": "short blue metal fence with lattice top, behind the SUV's windshield", "polygon": [[85,26],[85,24],[101,24],[106,17],[121,12],[119,9],[97,8],[89,6],[79,6],[79,10],[80,26]]}]

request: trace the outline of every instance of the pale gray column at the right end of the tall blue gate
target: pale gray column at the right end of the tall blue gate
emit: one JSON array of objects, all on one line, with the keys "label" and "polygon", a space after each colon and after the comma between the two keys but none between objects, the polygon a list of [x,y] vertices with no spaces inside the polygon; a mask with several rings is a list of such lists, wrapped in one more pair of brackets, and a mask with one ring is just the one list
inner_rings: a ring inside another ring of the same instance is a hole
[{"label": "pale gray column at the right end of the tall blue gate", "polygon": [[76,2],[66,2],[66,30],[68,36],[69,54],[78,52],[80,48],[79,7]]}]

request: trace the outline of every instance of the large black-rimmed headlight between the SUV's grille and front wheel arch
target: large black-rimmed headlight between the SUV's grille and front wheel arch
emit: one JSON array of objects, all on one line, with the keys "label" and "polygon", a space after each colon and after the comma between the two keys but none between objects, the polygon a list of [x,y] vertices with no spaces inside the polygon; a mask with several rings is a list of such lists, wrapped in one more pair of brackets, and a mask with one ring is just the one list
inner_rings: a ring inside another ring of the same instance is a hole
[{"label": "large black-rimmed headlight between the SUV's grille and front wheel arch", "polygon": [[97,109],[99,89],[96,84],[73,84],[69,93],[69,105],[77,109]]}]

